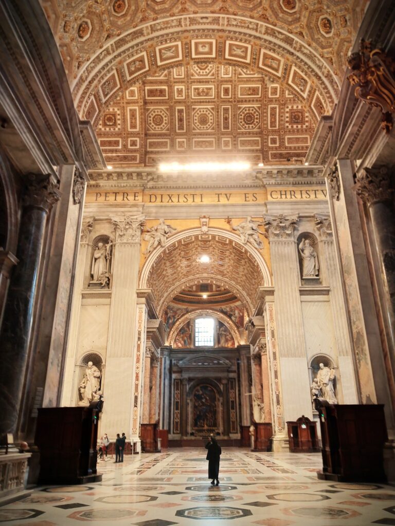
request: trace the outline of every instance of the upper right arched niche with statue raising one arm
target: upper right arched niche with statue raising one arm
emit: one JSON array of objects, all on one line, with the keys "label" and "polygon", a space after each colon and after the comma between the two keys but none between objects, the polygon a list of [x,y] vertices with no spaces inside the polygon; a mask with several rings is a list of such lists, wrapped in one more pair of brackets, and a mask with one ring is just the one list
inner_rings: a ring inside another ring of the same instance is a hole
[{"label": "upper right arched niche with statue raising one arm", "polygon": [[321,285],[321,262],[317,237],[312,232],[302,232],[297,238],[297,247],[302,285]]}]

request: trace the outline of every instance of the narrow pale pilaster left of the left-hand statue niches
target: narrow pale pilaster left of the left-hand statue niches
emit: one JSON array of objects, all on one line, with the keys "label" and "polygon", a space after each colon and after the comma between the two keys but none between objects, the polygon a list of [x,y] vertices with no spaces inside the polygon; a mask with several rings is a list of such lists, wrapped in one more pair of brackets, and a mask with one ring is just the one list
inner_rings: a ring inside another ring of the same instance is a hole
[{"label": "narrow pale pilaster left of the left-hand statue niches", "polygon": [[[80,312],[82,290],[84,288],[85,264],[90,255],[90,233],[93,229],[94,218],[85,218],[82,222],[80,248],[78,249],[75,268],[73,300],[71,305],[70,328],[68,333],[67,353],[64,367],[63,386],[61,393],[61,406],[75,406],[78,402],[78,377],[75,375],[74,365],[77,355],[78,327],[80,325]],[[74,383],[73,383],[74,381]]]}]

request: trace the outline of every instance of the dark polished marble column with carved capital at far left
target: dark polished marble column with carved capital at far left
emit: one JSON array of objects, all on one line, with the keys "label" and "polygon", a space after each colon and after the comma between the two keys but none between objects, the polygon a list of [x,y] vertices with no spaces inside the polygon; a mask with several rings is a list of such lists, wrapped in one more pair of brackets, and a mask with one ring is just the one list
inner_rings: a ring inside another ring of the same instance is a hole
[{"label": "dark polished marble column with carved capital at far left", "polygon": [[0,437],[16,428],[32,335],[38,275],[47,216],[60,198],[50,176],[29,177],[23,196],[17,258],[9,284],[0,336]]}]

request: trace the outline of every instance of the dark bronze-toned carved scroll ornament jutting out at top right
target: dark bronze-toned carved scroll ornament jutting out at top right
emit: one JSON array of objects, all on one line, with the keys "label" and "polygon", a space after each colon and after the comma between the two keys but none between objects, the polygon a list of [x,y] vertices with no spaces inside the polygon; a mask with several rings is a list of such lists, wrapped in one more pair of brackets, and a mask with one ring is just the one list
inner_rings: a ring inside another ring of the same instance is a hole
[{"label": "dark bronze-toned carved scroll ornament jutting out at top right", "polygon": [[355,96],[381,109],[381,127],[392,129],[395,112],[395,62],[381,49],[373,49],[370,41],[361,39],[360,50],[348,58],[353,73],[347,78],[355,88]]}]

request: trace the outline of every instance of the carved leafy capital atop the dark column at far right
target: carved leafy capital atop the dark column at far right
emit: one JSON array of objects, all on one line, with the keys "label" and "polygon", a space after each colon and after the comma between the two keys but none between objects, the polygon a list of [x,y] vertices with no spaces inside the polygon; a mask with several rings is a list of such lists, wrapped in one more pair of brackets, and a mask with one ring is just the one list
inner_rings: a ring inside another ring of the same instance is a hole
[{"label": "carved leafy capital atop the dark column at far right", "polygon": [[364,168],[361,174],[356,176],[354,189],[357,195],[368,206],[378,201],[389,201],[393,199],[394,189],[391,181],[391,173],[387,166]]}]

